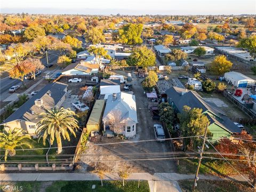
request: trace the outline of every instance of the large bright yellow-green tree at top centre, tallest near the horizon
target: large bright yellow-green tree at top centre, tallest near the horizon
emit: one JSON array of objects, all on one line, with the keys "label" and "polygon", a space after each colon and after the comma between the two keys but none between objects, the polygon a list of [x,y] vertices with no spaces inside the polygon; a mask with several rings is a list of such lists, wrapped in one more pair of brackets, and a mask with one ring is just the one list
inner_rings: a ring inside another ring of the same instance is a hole
[{"label": "large bright yellow-green tree at top centre, tallest near the horizon", "polygon": [[119,29],[119,39],[127,45],[141,44],[142,24],[128,23]]}]

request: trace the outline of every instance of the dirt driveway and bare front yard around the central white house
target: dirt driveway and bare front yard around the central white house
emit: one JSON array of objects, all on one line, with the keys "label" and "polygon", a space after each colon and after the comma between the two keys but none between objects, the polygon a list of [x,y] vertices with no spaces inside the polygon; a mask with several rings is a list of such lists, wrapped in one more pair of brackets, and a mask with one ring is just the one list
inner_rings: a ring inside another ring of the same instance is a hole
[{"label": "dirt driveway and bare front yard around the central white house", "polygon": [[[136,97],[138,125],[137,134],[129,140],[117,138],[99,137],[89,143],[86,152],[81,155],[82,170],[89,171],[90,167],[97,166],[102,162],[110,167],[112,172],[126,170],[129,172],[174,172],[177,167],[173,159],[162,159],[151,161],[155,158],[170,158],[171,147],[168,142],[145,141],[154,140],[153,125],[159,121],[153,120],[147,108],[147,97],[141,87],[142,79],[138,78],[136,72],[132,74],[133,93]],[[121,89],[122,90],[122,89]],[[142,141],[142,142],[126,142]],[[145,141],[145,142],[144,142]],[[115,145],[107,143],[122,142]],[[92,146],[93,144],[103,144]]]}]

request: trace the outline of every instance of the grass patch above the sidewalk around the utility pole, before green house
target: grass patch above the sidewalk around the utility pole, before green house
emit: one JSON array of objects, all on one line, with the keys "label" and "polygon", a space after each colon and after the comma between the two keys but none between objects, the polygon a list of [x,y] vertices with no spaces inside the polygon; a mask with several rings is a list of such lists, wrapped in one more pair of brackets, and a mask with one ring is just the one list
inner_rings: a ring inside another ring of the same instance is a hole
[{"label": "grass patch above the sidewalk around the utility pole, before green house", "polygon": [[[180,174],[194,174],[196,172],[198,160],[196,159],[180,159],[178,165],[178,173]],[[214,174],[214,175],[233,175],[236,172],[223,161],[213,161],[210,159],[203,159],[199,174]]]}]

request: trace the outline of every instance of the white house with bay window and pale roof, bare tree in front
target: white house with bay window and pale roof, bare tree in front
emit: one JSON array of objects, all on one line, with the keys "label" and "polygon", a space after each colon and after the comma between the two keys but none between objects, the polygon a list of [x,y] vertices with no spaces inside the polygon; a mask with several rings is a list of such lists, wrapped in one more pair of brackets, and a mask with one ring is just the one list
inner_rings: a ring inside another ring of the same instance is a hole
[{"label": "white house with bay window and pale roof, bare tree in front", "polygon": [[110,94],[102,121],[107,135],[114,132],[133,137],[138,123],[135,95],[124,92]]}]

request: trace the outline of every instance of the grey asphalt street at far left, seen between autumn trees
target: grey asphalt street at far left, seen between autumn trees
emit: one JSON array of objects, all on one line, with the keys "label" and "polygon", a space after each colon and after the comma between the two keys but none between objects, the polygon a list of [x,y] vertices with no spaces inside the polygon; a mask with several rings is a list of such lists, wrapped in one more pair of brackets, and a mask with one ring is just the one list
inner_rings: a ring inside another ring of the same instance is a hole
[{"label": "grey asphalt street at far left, seen between autumn trees", "polygon": [[[58,51],[49,51],[48,52],[48,61],[49,63],[56,63],[57,60],[58,60]],[[46,65],[47,64],[47,59],[46,59],[46,55],[45,57],[43,57],[41,59],[43,65]],[[45,70],[47,70],[47,68],[44,68],[42,70],[42,72],[44,72]],[[39,76],[39,78],[42,78],[42,75],[41,77]],[[26,81],[29,81],[29,80],[24,80],[24,82],[26,83]],[[3,79],[0,79],[0,99],[1,101],[3,101],[4,99],[6,99],[7,97],[9,97],[11,95],[11,93],[9,93],[9,89],[11,86],[14,86],[14,85],[22,85],[22,82],[18,79],[10,79],[9,77],[5,77]]]}]

